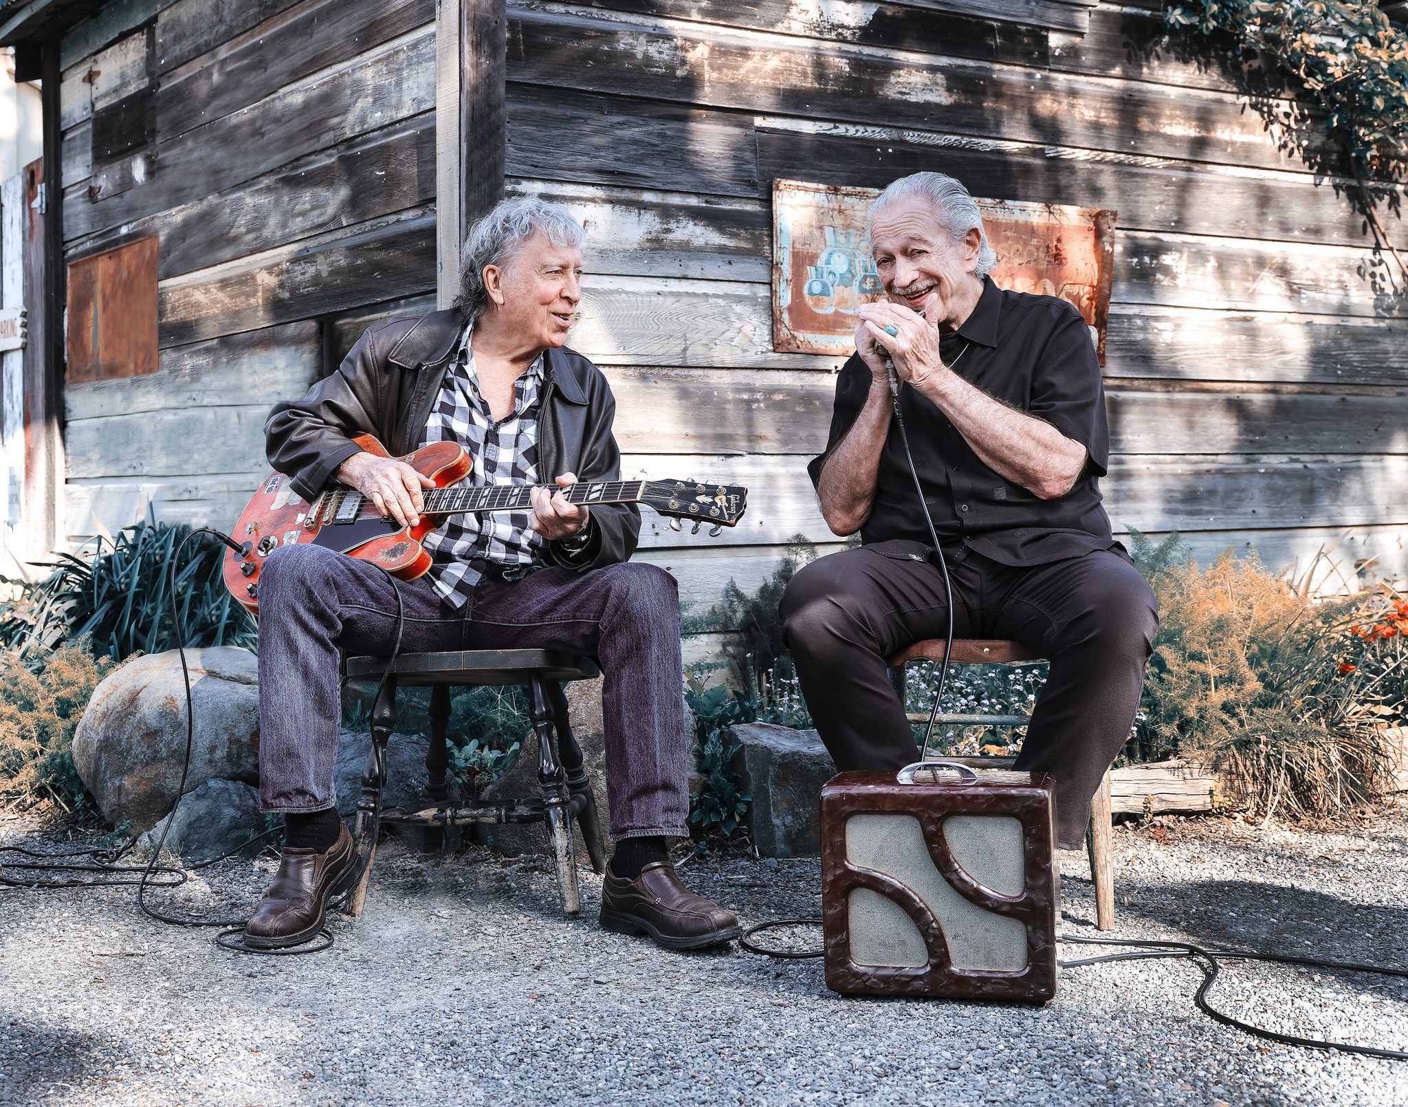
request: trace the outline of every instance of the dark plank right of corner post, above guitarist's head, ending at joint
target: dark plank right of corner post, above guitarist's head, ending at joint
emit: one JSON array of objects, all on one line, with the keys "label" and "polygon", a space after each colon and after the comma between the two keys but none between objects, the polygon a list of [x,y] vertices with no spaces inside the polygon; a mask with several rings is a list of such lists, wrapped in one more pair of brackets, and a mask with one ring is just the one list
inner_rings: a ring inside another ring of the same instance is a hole
[{"label": "dark plank right of corner post, above guitarist's head, ending at joint", "polygon": [[734,113],[511,83],[505,117],[513,176],[749,197],[765,187],[752,120]]}]

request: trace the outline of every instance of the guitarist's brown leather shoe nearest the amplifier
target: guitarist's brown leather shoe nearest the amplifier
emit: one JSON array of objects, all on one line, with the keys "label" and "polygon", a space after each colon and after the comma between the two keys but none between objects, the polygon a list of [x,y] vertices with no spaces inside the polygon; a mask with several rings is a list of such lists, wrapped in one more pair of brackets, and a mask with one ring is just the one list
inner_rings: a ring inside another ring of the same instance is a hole
[{"label": "guitarist's brown leather shoe nearest the amplifier", "polygon": [[601,882],[601,927],[617,934],[649,934],[666,949],[700,949],[743,932],[738,915],[696,896],[674,875],[674,866],[656,861],[635,880],[607,869]]}]

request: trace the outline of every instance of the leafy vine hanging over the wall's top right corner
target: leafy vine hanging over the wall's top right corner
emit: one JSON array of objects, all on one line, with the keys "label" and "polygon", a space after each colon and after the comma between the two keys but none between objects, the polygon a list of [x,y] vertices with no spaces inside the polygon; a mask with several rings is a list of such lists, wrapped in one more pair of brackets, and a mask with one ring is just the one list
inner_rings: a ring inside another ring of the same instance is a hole
[{"label": "leafy vine hanging over the wall's top right corner", "polygon": [[1402,180],[1408,168],[1408,35],[1374,0],[1178,0],[1164,20],[1228,35],[1239,58],[1280,70],[1319,108],[1378,246],[1408,276],[1376,210],[1397,194],[1367,183]]}]

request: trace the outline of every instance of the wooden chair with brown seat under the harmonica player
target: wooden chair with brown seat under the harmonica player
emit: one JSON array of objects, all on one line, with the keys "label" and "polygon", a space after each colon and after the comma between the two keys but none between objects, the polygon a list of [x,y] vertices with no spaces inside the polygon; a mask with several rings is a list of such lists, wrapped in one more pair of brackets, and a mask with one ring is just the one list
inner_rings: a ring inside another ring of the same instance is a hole
[{"label": "wooden chair with brown seat under the harmonica player", "polygon": [[[907,649],[901,649],[890,658],[890,682],[900,693],[901,706],[904,696],[904,666],[911,661],[943,661],[943,639],[926,638],[915,642]],[[1001,638],[955,638],[953,655],[949,659],[953,665],[1022,665],[1033,661],[1043,661],[1032,653],[1021,642],[1010,642]],[[928,723],[928,714],[910,715],[911,723]],[[960,727],[1025,727],[1029,715],[963,715],[939,714],[938,723],[957,724]],[[1008,768],[1014,758],[948,758],[974,769],[980,768]],[[1111,846],[1111,813],[1110,813],[1110,770],[1105,770],[1100,789],[1095,792],[1090,808],[1090,832],[1086,844],[1090,851],[1090,875],[1095,884],[1095,927],[1098,930],[1112,930],[1115,925],[1115,870],[1110,858]]]}]

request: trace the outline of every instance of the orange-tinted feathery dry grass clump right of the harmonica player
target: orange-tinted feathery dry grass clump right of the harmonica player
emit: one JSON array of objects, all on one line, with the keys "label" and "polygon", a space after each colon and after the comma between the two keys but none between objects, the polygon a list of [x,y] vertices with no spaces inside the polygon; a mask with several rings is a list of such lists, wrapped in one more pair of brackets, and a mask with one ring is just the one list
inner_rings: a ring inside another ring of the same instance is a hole
[{"label": "orange-tinted feathery dry grass clump right of the harmonica player", "polygon": [[1343,815],[1387,789],[1383,728],[1404,717],[1401,649],[1349,632],[1377,617],[1381,592],[1316,600],[1308,576],[1293,582],[1231,551],[1149,576],[1160,630],[1136,759],[1218,763],[1266,817]]}]

